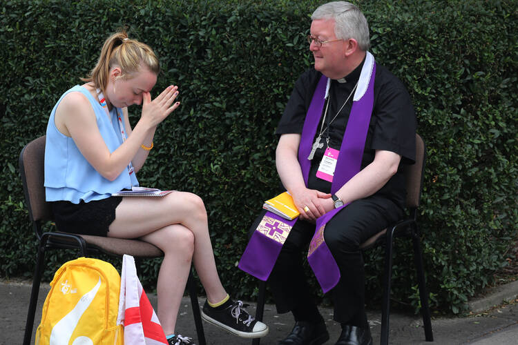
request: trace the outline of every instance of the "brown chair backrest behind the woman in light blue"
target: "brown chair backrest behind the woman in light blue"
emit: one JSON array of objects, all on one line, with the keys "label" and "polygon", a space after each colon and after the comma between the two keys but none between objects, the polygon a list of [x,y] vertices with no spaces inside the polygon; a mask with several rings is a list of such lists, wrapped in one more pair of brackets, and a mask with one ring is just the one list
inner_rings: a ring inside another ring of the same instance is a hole
[{"label": "brown chair backrest behind the woman in light blue", "polygon": [[35,222],[52,219],[50,204],[45,201],[45,140],[43,136],[30,141],[18,161],[29,217]]}]

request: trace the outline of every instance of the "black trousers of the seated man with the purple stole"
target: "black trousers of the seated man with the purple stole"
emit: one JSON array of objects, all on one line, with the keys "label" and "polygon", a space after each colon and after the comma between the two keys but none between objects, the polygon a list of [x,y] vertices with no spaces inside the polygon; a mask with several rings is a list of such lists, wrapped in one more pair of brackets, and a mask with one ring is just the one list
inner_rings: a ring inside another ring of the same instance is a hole
[{"label": "black trousers of the seated man with the purple stole", "polygon": [[[258,226],[264,212],[251,226]],[[401,219],[403,210],[390,199],[372,195],[352,202],[330,220],[324,231],[325,243],[340,269],[340,281],[329,293],[334,304],[334,320],[352,326],[367,326],[365,314],[365,272],[360,245]],[[278,313],[292,311],[297,321],[318,313],[303,269],[315,225],[299,220],[291,229],[268,279]],[[319,315],[320,316],[320,315]]]}]

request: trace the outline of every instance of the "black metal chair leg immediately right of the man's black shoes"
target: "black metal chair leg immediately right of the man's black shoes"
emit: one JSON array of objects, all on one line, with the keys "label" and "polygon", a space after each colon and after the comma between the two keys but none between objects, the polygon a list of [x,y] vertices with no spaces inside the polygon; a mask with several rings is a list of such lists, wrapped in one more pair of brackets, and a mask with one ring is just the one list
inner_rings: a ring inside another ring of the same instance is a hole
[{"label": "black metal chair leg immediately right of the man's black shoes", "polygon": [[383,301],[381,310],[381,338],[380,344],[388,344],[390,324],[390,286],[392,285],[392,248],[394,228],[387,230],[387,242],[385,244],[385,275],[383,277]]}]

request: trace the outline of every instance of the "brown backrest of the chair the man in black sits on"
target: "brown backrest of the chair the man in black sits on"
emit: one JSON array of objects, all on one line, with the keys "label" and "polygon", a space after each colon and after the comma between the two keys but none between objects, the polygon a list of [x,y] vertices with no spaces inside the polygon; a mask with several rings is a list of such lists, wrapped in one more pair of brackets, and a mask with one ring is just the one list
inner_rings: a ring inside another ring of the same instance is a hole
[{"label": "brown backrest of the chair the man in black sits on", "polygon": [[419,206],[423,187],[423,171],[425,168],[426,148],[423,139],[416,134],[416,162],[404,168],[407,197],[406,206],[415,209]]}]

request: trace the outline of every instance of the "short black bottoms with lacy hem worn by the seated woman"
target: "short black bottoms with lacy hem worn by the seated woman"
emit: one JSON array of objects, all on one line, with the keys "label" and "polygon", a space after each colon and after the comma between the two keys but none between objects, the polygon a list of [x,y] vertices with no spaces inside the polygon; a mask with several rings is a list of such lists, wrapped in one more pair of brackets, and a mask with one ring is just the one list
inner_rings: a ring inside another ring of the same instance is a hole
[{"label": "short black bottoms with lacy hem worn by the seated woman", "polygon": [[115,208],[122,197],[73,204],[70,201],[52,201],[52,212],[58,231],[81,235],[106,237],[110,224],[115,220]]}]

